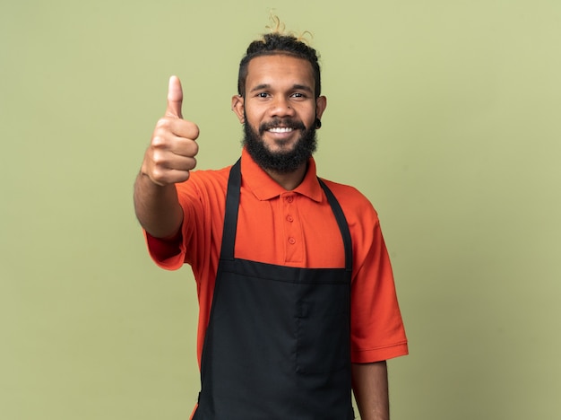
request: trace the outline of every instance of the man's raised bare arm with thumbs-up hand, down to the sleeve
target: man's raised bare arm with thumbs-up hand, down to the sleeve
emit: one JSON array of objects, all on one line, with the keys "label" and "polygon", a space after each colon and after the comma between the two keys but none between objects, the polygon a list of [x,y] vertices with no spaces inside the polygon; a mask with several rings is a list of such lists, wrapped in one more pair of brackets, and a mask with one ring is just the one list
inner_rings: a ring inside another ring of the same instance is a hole
[{"label": "man's raised bare arm with thumbs-up hand, down to the sleeve", "polygon": [[156,238],[177,237],[183,211],[176,183],[189,178],[198,152],[199,129],[181,115],[183,92],[177,77],[169,79],[168,109],[160,118],[142,168],[134,183],[134,211],[146,232]]}]

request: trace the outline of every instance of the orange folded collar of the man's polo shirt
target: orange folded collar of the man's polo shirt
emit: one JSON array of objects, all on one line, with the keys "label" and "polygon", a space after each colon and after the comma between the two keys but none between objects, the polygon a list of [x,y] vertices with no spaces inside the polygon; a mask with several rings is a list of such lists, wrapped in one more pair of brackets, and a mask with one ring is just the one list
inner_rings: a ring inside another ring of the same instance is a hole
[{"label": "orange folded collar of the man's polo shirt", "polygon": [[[242,185],[249,188],[259,200],[269,200],[287,193],[269,174],[253,160],[244,147],[242,149]],[[317,180],[315,161],[313,157],[307,162],[306,176],[292,192],[301,194],[314,201],[322,201],[322,188]]]}]

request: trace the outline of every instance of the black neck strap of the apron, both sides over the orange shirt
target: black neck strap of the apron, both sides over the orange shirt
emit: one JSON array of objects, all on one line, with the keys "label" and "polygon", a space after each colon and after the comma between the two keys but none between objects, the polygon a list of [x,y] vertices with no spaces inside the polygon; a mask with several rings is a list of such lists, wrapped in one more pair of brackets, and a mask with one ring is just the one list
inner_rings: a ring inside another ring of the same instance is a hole
[{"label": "black neck strap of the apron, both sides over the orange shirt", "polygon": [[[239,209],[239,194],[241,188],[241,158],[232,166],[229,172],[228,190],[226,193],[226,210],[224,213],[224,229],[222,231],[222,245],[220,248],[220,259],[234,259],[234,246],[236,244],[237,212]],[[337,198],[333,195],[322,179],[317,179],[324,189],[325,196],[335,220],[339,225],[345,249],[345,270],[352,273],[352,241],[350,238],[349,223],[341,209]]]}]

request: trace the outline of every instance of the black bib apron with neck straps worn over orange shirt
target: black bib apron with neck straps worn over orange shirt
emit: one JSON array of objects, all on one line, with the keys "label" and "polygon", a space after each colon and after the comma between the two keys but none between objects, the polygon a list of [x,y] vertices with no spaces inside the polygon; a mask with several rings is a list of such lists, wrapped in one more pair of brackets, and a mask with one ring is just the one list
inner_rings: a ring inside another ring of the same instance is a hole
[{"label": "black bib apron with neck straps worn over orange shirt", "polygon": [[[341,206],[344,268],[234,258],[241,186],[232,167],[194,420],[350,420],[352,247]],[[267,234],[267,232],[263,232]]]}]

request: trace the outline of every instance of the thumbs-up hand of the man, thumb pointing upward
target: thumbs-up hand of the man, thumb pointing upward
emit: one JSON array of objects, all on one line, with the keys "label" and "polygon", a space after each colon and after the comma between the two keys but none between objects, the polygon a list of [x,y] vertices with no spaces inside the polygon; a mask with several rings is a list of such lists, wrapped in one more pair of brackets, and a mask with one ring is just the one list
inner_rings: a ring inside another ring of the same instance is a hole
[{"label": "thumbs-up hand of the man, thumb pointing upward", "polygon": [[168,109],[156,124],[141,169],[144,175],[160,186],[185,181],[196,165],[194,156],[199,151],[199,145],[195,140],[199,136],[199,127],[183,119],[182,102],[181,82],[176,76],[171,76]]}]

